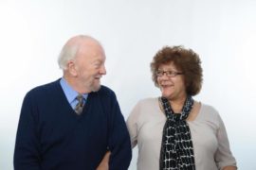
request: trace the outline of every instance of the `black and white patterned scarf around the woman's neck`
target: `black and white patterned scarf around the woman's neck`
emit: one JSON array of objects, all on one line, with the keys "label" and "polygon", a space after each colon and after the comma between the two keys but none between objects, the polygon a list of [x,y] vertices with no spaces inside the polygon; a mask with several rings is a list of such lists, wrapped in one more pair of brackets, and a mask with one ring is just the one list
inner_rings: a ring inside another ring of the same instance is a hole
[{"label": "black and white patterned scarf around the woman's neck", "polygon": [[160,97],[167,120],[163,128],[160,170],[195,170],[192,137],[186,123],[193,99],[188,96],[180,114],[175,114],[167,98]]}]

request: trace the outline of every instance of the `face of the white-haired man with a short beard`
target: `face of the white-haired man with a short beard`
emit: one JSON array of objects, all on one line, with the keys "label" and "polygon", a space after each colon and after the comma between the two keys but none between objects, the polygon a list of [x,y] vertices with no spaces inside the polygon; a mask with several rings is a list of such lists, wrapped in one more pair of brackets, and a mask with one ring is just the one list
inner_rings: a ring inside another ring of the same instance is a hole
[{"label": "face of the white-haired man with a short beard", "polygon": [[99,91],[101,76],[106,75],[105,54],[101,45],[92,43],[81,47],[74,61],[77,84],[87,93]]}]

